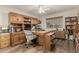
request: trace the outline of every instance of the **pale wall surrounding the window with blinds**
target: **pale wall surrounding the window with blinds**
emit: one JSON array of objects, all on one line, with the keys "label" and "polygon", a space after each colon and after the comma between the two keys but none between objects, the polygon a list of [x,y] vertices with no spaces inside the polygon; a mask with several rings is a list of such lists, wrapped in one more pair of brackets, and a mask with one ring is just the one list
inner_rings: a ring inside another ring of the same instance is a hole
[{"label": "pale wall surrounding the window with blinds", "polygon": [[67,10],[67,11],[40,17],[40,19],[42,21],[42,24],[41,24],[42,28],[46,29],[46,18],[57,17],[57,16],[63,16],[63,28],[65,28],[65,17],[77,16],[77,14],[78,14],[78,9],[73,9],[73,10]]}]

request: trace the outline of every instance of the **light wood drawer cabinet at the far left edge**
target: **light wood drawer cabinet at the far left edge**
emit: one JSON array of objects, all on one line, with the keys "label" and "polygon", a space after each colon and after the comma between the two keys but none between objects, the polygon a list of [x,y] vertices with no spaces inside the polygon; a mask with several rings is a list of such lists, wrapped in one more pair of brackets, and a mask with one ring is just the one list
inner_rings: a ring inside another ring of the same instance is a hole
[{"label": "light wood drawer cabinet at the far left edge", "polygon": [[10,34],[0,34],[0,48],[10,46]]}]

